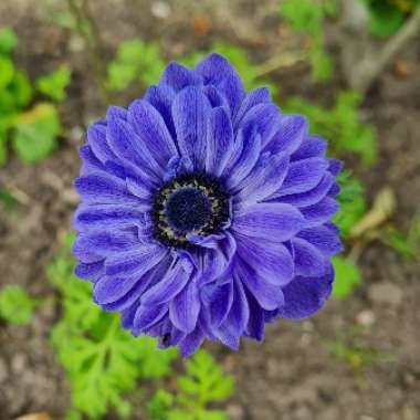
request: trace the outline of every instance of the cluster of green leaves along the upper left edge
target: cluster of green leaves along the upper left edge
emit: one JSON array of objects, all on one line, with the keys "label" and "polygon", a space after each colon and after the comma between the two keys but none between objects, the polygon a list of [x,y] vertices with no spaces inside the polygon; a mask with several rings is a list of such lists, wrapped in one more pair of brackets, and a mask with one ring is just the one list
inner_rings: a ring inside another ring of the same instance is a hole
[{"label": "cluster of green leaves along the upper left edge", "polygon": [[[12,30],[0,31],[0,166],[7,164],[9,141],[24,162],[32,164],[54,150],[62,132],[55,105],[36,103],[29,107],[34,88],[28,74],[14,65],[12,53],[17,43]],[[64,72],[63,67],[59,73],[41,77],[35,84],[38,92],[60,101],[69,83],[69,77],[64,81]]]}]

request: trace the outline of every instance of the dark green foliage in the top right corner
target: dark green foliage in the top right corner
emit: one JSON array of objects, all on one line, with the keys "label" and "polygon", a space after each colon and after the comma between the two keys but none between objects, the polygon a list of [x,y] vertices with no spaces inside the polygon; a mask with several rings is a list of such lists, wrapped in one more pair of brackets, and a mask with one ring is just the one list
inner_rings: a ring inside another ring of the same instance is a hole
[{"label": "dark green foliage in the top right corner", "polygon": [[369,30],[376,36],[393,35],[420,0],[361,0],[370,14]]}]

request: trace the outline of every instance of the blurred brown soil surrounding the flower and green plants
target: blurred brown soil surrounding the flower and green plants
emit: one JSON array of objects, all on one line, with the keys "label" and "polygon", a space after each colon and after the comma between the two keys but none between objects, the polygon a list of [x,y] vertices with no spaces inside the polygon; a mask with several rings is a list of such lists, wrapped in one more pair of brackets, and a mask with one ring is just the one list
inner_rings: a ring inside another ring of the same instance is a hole
[{"label": "blurred brown soil surrounding the flower and green plants", "polygon": [[[263,60],[282,48],[281,36],[286,36],[285,43],[294,42],[279,29],[274,0],[259,1],[258,7],[251,0],[229,6],[220,0],[196,6],[172,0],[166,19],[153,14],[151,3],[93,1],[107,51],[123,39],[144,36],[158,39],[170,57],[211,40],[229,40]],[[186,13],[187,8],[191,13]],[[66,134],[60,149],[36,166],[23,166],[12,156],[0,169],[0,185],[20,200],[13,212],[0,207],[0,287],[13,283],[35,296],[51,297],[30,326],[0,325],[0,420],[34,411],[60,418],[69,407],[70,393],[49,344],[59,313],[44,265],[56,251],[61,232],[70,228],[76,203],[72,191],[78,170],[76,146],[83,126],[101,115],[104,106],[80,42],[48,24],[38,1],[3,1],[2,24],[17,30],[18,61],[32,76],[63,61],[74,69],[70,97],[61,109]],[[192,35],[191,28],[196,28]],[[332,44],[334,50],[334,40]],[[399,60],[410,64],[410,75],[398,77],[387,71],[365,101],[363,113],[378,129],[380,155],[375,167],[358,170],[358,175],[370,199],[385,185],[393,188],[398,198],[395,222],[405,229],[420,203],[419,42]],[[307,73],[300,65],[274,72],[272,77],[279,81],[282,97],[301,94],[328,102],[336,88],[344,87],[339,76],[329,87],[314,86]],[[117,102],[127,104],[139,94],[134,87]],[[267,328],[263,344],[243,343],[239,353],[208,346],[237,378],[237,392],[227,405],[232,419],[420,419],[420,266],[403,264],[379,242],[368,244],[360,265],[364,282],[356,293],[344,302],[330,301],[312,319],[281,321]],[[361,332],[349,333],[360,327]],[[340,337],[350,345],[375,349],[379,356],[367,366],[351,367],[328,350],[328,344]],[[139,412],[134,419],[141,418]]]}]

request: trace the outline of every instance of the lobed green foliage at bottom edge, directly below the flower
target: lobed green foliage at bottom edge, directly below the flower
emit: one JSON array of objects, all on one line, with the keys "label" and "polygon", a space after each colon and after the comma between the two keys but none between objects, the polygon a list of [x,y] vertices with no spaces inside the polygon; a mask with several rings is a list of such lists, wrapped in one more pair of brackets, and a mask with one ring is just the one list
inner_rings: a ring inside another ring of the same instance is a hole
[{"label": "lobed green foliage at bottom edge, directly below the flower", "polygon": [[229,398],[233,378],[207,351],[198,351],[186,361],[187,375],[177,378],[178,392],[160,389],[148,402],[147,410],[155,420],[228,420],[221,410],[209,409],[213,402]]}]

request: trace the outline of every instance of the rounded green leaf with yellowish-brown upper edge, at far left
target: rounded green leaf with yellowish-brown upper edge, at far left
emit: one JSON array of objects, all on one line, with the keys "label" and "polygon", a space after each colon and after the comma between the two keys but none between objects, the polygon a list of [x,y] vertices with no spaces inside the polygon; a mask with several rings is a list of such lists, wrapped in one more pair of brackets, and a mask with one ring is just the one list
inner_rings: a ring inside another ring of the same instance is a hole
[{"label": "rounded green leaf with yellowish-brown upper edge, at far left", "polygon": [[36,162],[56,148],[61,130],[56,108],[51,104],[38,104],[19,115],[13,133],[13,148],[24,162]]}]

